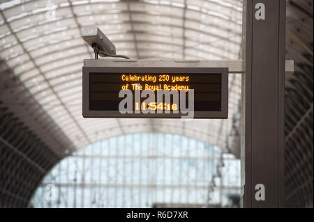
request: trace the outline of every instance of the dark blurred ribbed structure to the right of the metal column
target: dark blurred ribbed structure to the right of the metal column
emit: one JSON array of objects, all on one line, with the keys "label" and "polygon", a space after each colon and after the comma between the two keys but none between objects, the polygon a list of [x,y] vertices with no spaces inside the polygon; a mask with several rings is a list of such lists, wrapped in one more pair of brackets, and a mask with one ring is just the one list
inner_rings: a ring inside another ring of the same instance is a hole
[{"label": "dark blurred ribbed structure to the right of the metal column", "polygon": [[287,1],[285,206],[313,207],[313,1]]}]

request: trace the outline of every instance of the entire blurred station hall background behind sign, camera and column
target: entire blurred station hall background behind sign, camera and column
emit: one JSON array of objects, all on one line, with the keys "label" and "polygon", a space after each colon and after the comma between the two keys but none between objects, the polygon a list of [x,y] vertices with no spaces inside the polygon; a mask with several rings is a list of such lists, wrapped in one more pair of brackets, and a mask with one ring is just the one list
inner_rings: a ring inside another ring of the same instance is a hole
[{"label": "entire blurred station hall background behind sign, camera and column", "polygon": [[[241,74],[227,120],[84,119],[91,25],[133,58],[241,58],[241,0],[1,2],[0,207],[239,207]],[[287,1],[286,51],[285,204],[313,207],[313,1]]]}]

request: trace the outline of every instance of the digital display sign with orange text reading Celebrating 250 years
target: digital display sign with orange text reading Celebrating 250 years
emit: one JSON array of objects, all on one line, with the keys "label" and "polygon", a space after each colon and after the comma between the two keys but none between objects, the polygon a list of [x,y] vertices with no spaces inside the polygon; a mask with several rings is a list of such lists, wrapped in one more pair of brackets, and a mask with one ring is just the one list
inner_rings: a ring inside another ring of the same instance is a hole
[{"label": "digital display sign with orange text reading Celebrating 250 years", "polygon": [[227,68],[83,68],[83,116],[227,118]]}]

